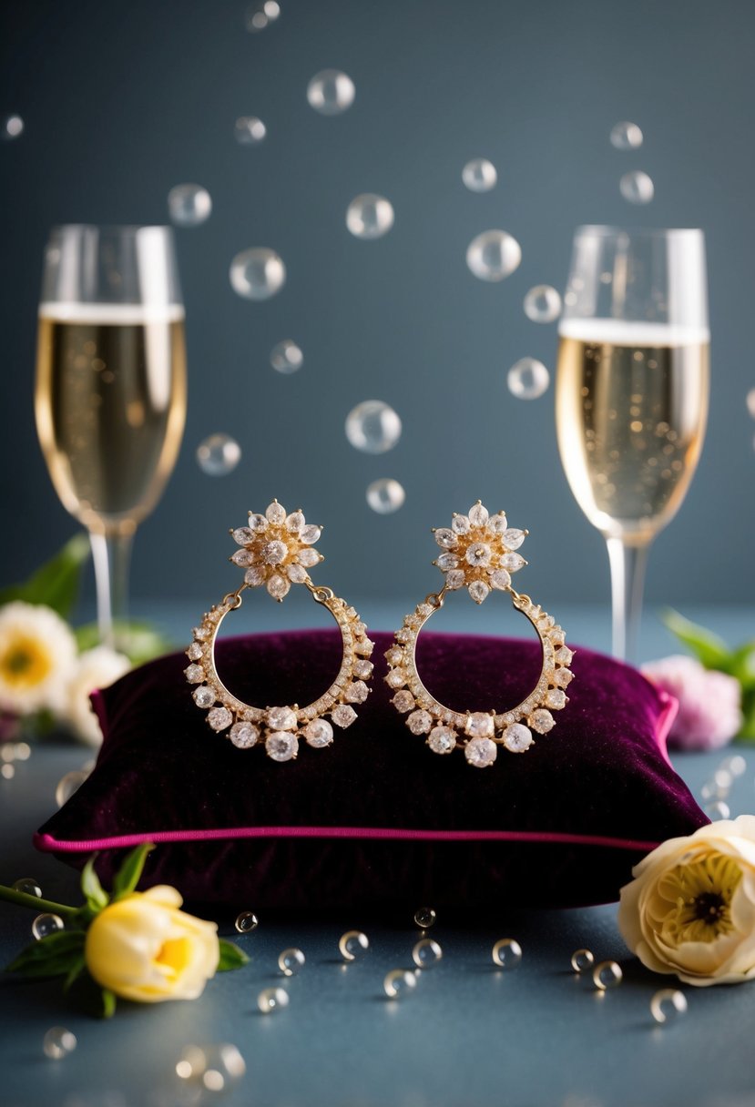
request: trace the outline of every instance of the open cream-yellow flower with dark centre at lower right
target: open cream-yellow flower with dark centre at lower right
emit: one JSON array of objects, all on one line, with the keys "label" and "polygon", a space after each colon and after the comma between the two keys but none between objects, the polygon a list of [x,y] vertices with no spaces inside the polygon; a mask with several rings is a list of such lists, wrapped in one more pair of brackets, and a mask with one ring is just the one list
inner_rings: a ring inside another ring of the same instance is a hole
[{"label": "open cream-yellow flower with dark centre at lower right", "polygon": [[755,977],[755,816],[671,838],[632,873],[619,929],[643,964],[700,986]]}]

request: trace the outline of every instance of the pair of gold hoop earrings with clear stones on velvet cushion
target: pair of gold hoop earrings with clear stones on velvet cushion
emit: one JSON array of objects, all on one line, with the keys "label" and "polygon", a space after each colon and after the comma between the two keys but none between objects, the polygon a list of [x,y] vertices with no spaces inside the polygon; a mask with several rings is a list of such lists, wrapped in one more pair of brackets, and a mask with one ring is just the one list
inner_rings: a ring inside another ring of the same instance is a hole
[{"label": "pair of gold hoop earrings with clear stones on velvet cushion", "polygon": [[[368,699],[368,681],[373,673],[370,660],[374,643],[354,608],[332,589],[313,584],[309,569],[323,560],[313,549],[320,527],[308,524],[301,510],[287,514],[273,500],[265,515],[249,513],[245,527],[230,531],[239,549],[230,560],[245,570],[244,582],[228,592],[194,629],[186,651],[189,665],[185,675],[196,685],[194,702],[207,712],[207,723],[225,734],[240,749],[263,745],[269,757],[285,762],[296,758],[303,739],[316,749],[333,741],[333,726],[345,728],[356,718],[355,706]],[[517,552],[527,531],[509,527],[503,511],[490,516],[479,500],[467,515],[454,515],[451,527],[434,530],[442,552],[433,562],[444,573],[443,588],[431,592],[407,614],[386,652],[385,682],[394,691],[392,703],[406,716],[412,734],[424,735],[436,754],[464,751],[469,765],[485,768],[496,761],[498,748],[524,753],[532,743],[532,732],[547,734],[555,726],[552,712],[568,703],[565,689],[572,673],[573,653],[566,645],[563,630],[528,596],[511,588],[511,573],[527,562]],[[341,632],[342,659],[332,685],[312,703],[300,707],[255,707],[235,696],[224,685],[215,665],[215,642],[223,620],[241,606],[247,588],[266,587],[282,601],[291,584],[303,584],[317,603],[330,611]],[[508,592],[514,607],[535,628],[542,649],[542,665],[536,686],[515,707],[504,712],[456,712],[433,696],[417,671],[416,643],[427,620],[443,607],[451,591],[466,588],[476,603],[492,591]],[[330,716],[327,718],[325,716]]]}]

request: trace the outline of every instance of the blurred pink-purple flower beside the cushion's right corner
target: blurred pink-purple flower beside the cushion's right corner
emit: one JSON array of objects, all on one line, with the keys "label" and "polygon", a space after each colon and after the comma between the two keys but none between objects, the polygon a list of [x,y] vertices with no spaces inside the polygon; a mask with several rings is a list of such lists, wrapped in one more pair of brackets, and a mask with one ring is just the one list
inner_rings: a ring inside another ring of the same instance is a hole
[{"label": "blurred pink-purple flower beside the cushion's right corner", "polygon": [[642,666],[658,687],[679,700],[669,742],[680,749],[717,749],[742,726],[740,682],[705,669],[695,658],[672,654]]}]

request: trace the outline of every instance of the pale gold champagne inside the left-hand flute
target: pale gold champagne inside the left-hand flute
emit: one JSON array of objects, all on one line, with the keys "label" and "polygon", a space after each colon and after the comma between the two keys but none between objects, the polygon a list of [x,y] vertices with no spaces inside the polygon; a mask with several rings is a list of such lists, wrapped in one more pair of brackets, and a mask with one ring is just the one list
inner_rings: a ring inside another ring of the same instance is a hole
[{"label": "pale gold champagne inside the left-hand flute", "polygon": [[90,530],[133,530],[184,431],[183,308],[42,304],[34,411],[65,508]]}]

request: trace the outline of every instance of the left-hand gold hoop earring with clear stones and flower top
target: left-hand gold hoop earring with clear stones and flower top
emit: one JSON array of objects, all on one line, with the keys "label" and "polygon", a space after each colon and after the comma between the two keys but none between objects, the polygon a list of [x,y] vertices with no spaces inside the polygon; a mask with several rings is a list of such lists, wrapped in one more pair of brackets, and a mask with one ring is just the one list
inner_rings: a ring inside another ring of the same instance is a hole
[{"label": "left-hand gold hoop earring with clear stones and flower top", "polygon": [[[307,524],[301,510],[286,514],[277,499],[265,515],[249,511],[246,527],[229,531],[240,549],[229,558],[234,565],[246,569],[244,583],[228,592],[217,607],[208,611],[194,629],[194,641],[186,654],[190,661],[184,670],[189,684],[196,684],[194,702],[207,711],[207,723],[239,749],[263,744],[268,757],[285,762],[296,758],[299,739],[303,738],[316,749],[333,741],[333,726],[345,728],[356,718],[352,704],[364,703],[370,689],[373,664],[369,660],[373,642],[359,614],[330,588],[317,587],[308,569],[324,560],[312,547],[320,538],[321,528]],[[215,668],[215,640],[220,623],[229,611],[241,607],[241,593],[247,588],[262,584],[279,602],[288,594],[291,584],[304,584],[312,599],[332,614],[341,631],[343,656],[341,669],[333,684],[313,703],[300,707],[254,707],[232,695],[218,676]],[[330,722],[324,717],[330,715]]]}]

